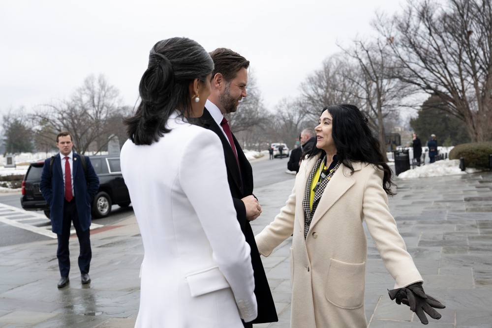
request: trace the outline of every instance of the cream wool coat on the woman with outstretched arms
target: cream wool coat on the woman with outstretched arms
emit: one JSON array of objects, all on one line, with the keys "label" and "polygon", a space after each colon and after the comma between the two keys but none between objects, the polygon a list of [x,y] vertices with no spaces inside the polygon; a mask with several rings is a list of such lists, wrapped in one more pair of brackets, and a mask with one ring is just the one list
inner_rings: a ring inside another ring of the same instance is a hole
[{"label": "cream wool coat on the woman with outstretched arms", "polygon": [[[291,327],[367,327],[364,220],[386,269],[395,279],[394,288],[423,280],[388,210],[383,172],[372,165],[352,163],[353,175],[340,165],[319,200],[304,239],[302,201],[309,173],[318,158],[302,162],[285,206],[256,236],[258,250],[268,256],[294,235],[290,254]],[[387,287],[381,286],[382,294]]]}]

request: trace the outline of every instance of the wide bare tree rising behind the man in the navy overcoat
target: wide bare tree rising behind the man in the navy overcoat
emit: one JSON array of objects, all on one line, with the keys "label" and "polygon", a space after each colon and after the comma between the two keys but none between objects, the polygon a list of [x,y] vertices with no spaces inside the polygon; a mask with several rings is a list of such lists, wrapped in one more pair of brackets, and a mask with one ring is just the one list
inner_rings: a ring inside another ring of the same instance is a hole
[{"label": "wide bare tree rising behind the man in the navy overcoat", "polygon": [[67,100],[43,105],[31,115],[36,138],[52,143],[60,131],[69,131],[74,149],[84,154],[93,147],[100,151],[107,147],[109,137],[123,125],[115,124],[114,118],[121,117],[119,91],[108,84],[103,75],[96,79],[87,77],[84,84]]}]

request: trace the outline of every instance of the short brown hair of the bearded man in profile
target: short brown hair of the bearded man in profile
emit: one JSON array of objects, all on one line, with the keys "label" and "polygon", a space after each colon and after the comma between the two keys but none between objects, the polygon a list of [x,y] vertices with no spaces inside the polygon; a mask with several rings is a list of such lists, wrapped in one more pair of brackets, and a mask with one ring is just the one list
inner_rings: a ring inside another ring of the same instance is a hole
[{"label": "short brown hair of the bearded man in profile", "polygon": [[226,82],[230,82],[236,77],[241,68],[248,69],[249,67],[249,60],[246,60],[246,58],[231,49],[217,48],[209,54],[215,65],[212,71],[212,79],[215,74],[220,73]]}]

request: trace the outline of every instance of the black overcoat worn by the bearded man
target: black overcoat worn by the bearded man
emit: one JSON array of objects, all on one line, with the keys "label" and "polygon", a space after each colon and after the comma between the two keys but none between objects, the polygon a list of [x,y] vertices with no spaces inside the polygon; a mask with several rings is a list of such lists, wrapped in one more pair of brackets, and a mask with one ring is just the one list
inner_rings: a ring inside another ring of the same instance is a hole
[{"label": "black overcoat worn by the bearded man", "polygon": [[237,218],[241,225],[241,230],[246,237],[246,241],[251,247],[251,264],[254,270],[255,284],[254,294],[256,296],[256,301],[258,302],[258,316],[252,323],[277,322],[277,311],[275,310],[270,286],[268,285],[267,276],[265,275],[265,270],[261,263],[258,247],[254,240],[253,230],[251,229],[249,221],[246,219],[245,205],[241,200],[242,198],[253,194],[253,170],[251,169],[251,165],[249,164],[243,149],[241,149],[239,142],[233,134],[232,138],[236,145],[239,165],[241,166],[241,171],[239,170],[236,156],[234,155],[234,151],[232,150],[229,141],[206,108],[203,110],[203,115],[199,119],[199,124],[214,131],[222,142],[225,165],[227,167],[227,179],[229,181],[229,188],[231,189],[234,207],[236,208]]}]

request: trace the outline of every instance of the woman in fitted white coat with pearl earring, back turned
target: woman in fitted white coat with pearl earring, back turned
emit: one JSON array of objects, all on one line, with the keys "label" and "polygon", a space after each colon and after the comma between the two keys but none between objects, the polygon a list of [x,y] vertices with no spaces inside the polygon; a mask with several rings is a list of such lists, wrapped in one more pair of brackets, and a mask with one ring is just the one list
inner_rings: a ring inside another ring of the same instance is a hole
[{"label": "woman in fitted white coat with pearl earring, back turned", "polygon": [[227,184],[222,144],[188,123],[214,63],[193,40],[157,42],[125,119],[121,166],[144,244],[135,327],[236,327],[256,317],[250,248]]}]

